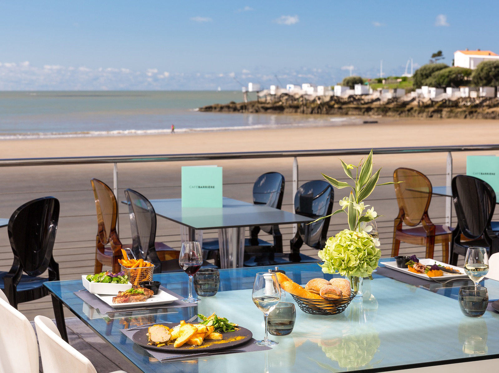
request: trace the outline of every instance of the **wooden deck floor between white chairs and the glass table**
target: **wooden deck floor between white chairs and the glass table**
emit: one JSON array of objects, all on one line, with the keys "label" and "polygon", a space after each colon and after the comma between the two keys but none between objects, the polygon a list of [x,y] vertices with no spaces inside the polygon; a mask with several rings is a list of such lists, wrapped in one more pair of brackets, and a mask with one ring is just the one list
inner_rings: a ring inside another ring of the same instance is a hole
[{"label": "wooden deck floor between white chairs and the glass table", "polygon": [[[34,328],[34,322],[31,322]],[[97,373],[123,370],[127,373],[140,373],[118,352],[104,342],[97,334],[76,317],[66,319],[69,344],[85,355],[94,365]],[[36,330],[35,330],[36,332]],[[40,373],[43,372],[40,359]]]}]

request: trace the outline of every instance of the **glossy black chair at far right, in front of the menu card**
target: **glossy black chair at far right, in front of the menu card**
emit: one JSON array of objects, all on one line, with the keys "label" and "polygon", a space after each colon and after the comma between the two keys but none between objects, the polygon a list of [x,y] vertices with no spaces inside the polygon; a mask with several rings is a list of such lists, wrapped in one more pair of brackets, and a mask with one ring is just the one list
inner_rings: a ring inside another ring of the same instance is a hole
[{"label": "glossy black chair at far right, in front of the menu card", "polygon": [[[489,256],[499,251],[499,238],[493,232],[491,219],[496,207],[496,193],[485,181],[473,176],[457,175],[452,179],[452,197],[458,226],[452,235],[450,264],[468,248],[483,247]],[[467,240],[463,241],[462,236]]]}]

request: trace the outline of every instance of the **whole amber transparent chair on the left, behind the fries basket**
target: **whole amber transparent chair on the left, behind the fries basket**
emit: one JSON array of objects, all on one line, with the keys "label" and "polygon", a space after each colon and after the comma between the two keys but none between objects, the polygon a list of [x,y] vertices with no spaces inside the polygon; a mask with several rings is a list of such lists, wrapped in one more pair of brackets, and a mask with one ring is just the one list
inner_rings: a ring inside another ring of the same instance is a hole
[{"label": "whole amber transparent chair on the left, behind the fries basket", "polygon": [[[92,179],[92,189],[97,210],[97,237],[95,239],[94,272],[102,272],[102,265],[112,267],[114,273],[120,271],[121,241],[116,231],[118,204],[114,193],[105,183]],[[109,247],[107,247],[109,245]]]}]

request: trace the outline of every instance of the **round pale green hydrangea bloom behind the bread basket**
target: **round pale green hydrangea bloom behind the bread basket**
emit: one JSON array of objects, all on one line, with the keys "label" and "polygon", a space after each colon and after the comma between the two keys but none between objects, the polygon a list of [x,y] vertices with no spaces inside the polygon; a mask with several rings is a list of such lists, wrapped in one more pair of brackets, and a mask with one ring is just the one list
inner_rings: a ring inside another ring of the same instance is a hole
[{"label": "round pale green hydrangea bloom behind the bread basket", "polygon": [[348,229],[330,237],[324,249],[318,252],[324,261],[324,273],[339,273],[342,276],[371,277],[378,266],[381,250],[379,241],[366,232]]}]

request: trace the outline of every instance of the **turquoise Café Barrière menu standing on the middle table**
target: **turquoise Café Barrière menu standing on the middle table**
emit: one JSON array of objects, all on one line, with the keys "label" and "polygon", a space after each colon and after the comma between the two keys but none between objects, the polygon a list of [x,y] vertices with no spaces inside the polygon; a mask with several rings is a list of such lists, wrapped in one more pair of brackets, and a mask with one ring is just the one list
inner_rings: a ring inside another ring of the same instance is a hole
[{"label": "turquoise Caf\u00e9 Barri\u00e8re menu standing on the middle table", "polygon": [[182,167],[182,207],[222,207],[222,167]]}]

